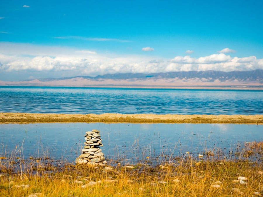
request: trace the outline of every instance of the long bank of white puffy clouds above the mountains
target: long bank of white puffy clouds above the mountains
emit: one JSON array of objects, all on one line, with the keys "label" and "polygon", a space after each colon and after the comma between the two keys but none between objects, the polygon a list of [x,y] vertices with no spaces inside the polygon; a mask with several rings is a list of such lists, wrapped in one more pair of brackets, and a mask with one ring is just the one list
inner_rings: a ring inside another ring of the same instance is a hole
[{"label": "long bank of white puffy clouds above the mountains", "polygon": [[[20,51],[23,48],[23,53]],[[113,73],[154,73],[171,71],[245,71],[263,69],[263,59],[231,57],[224,53],[198,58],[176,56],[172,59],[158,59],[142,56],[104,55],[92,50],[51,48],[21,45],[10,49],[0,44],[0,72],[13,71],[70,71],[79,75]],[[60,77],[60,76],[58,76]],[[0,79],[1,80],[1,79]]]}]

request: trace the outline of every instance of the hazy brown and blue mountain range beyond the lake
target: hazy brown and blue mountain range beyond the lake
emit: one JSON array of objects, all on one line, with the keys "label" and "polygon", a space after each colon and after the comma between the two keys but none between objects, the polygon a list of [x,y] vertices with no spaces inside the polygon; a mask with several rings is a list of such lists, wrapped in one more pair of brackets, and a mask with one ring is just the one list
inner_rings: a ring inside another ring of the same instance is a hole
[{"label": "hazy brown and blue mountain range beyond the lake", "polygon": [[95,77],[74,76],[64,78],[45,78],[27,81],[0,81],[2,86],[263,86],[263,70],[253,71],[189,71],[167,73],[117,73]]}]

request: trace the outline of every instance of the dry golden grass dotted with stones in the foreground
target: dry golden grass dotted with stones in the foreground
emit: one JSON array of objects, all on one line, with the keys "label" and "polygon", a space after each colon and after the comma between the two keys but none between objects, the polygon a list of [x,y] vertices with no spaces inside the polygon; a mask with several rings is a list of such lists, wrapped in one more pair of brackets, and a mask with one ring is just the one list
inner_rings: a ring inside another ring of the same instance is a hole
[{"label": "dry golden grass dotted with stones in the foreground", "polygon": [[[0,196],[252,196],[263,192],[262,163],[249,161],[199,161],[186,154],[177,163],[141,163],[133,169],[72,164],[45,168],[38,163],[32,160],[27,170],[21,167],[17,172],[1,168]],[[245,184],[240,184],[240,176],[247,178]]]}]

